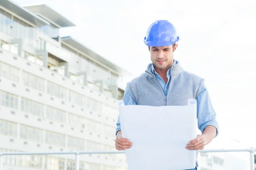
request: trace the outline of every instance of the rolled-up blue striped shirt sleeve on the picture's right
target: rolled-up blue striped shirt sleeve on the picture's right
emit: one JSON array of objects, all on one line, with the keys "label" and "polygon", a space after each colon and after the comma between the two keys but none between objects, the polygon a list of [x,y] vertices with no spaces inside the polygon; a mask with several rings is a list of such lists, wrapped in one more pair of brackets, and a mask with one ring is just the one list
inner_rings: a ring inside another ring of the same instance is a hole
[{"label": "rolled-up blue striped shirt sleeve on the picture's right", "polygon": [[[212,107],[209,92],[205,85],[203,85],[201,92],[198,94],[197,100],[197,118],[198,129],[203,133],[204,129],[211,125],[216,128],[216,136],[218,136],[219,127],[216,120],[216,113]],[[215,137],[216,137],[215,136]]]}]

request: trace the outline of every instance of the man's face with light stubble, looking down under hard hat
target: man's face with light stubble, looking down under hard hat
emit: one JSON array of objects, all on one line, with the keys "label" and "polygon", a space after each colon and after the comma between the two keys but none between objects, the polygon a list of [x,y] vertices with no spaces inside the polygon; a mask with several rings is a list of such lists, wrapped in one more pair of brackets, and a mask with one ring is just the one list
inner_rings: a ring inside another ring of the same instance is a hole
[{"label": "man's face with light stubble, looking down under hard hat", "polygon": [[151,61],[154,67],[161,69],[170,68],[173,64],[173,52],[177,45],[173,48],[172,45],[164,47],[150,47]]}]

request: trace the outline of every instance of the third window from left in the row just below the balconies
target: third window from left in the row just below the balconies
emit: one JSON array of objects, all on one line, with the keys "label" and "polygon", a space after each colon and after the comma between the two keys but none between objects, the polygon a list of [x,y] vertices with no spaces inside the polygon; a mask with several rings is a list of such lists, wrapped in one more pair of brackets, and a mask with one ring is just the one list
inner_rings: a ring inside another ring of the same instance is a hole
[{"label": "third window from left in the row just below the balconies", "polygon": [[67,89],[49,81],[47,82],[47,93],[60,99],[67,99]]}]

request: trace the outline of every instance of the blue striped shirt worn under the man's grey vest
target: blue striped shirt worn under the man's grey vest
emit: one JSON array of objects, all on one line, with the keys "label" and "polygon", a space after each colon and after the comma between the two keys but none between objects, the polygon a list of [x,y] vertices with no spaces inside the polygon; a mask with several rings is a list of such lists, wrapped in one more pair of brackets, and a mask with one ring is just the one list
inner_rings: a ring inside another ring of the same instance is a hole
[{"label": "blue striped shirt worn under the man's grey vest", "polygon": [[[174,64],[176,64],[176,63],[177,62],[174,61]],[[154,67],[151,67],[151,68],[152,68],[152,70],[151,70],[152,73],[155,75],[157,81],[160,83],[161,87],[163,88],[164,94],[167,95],[167,91],[169,88],[169,82],[171,79],[170,69],[167,71],[168,81],[165,83],[164,80],[160,77],[160,75],[157,74]],[[125,89],[123,101],[124,101],[124,105],[137,105],[137,103],[131,97],[131,94],[127,87]],[[218,135],[218,122],[215,119],[216,113],[215,113],[214,108],[212,107],[209,93],[207,91],[205,84],[203,84],[201,92],[198,94],[196,101],[197,101],[198,129],[201,130],[201,132],[203,133],[204,129],[207,126],[212,125],[212,126],[216,127],[216,129],[217,129],[217,134],[216,134],[216,136],[217,136]],[[118,117],[118,120],[116,123],[116,133],[119,130],[121,130],[121,126],[120,126],[120,121],[119,121],[119,117]]]}]

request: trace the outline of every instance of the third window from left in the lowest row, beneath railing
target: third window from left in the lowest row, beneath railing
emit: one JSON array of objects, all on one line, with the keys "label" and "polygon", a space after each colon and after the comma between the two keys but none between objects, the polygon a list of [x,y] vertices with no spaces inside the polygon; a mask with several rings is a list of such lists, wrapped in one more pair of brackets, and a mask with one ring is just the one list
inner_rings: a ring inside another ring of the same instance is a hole
[{"label": "third window from left in the lowest row, beneath railing", "polygon": [[44,157],[44,168],[47,170],[64,170],[65,159],[45,156]]}]

